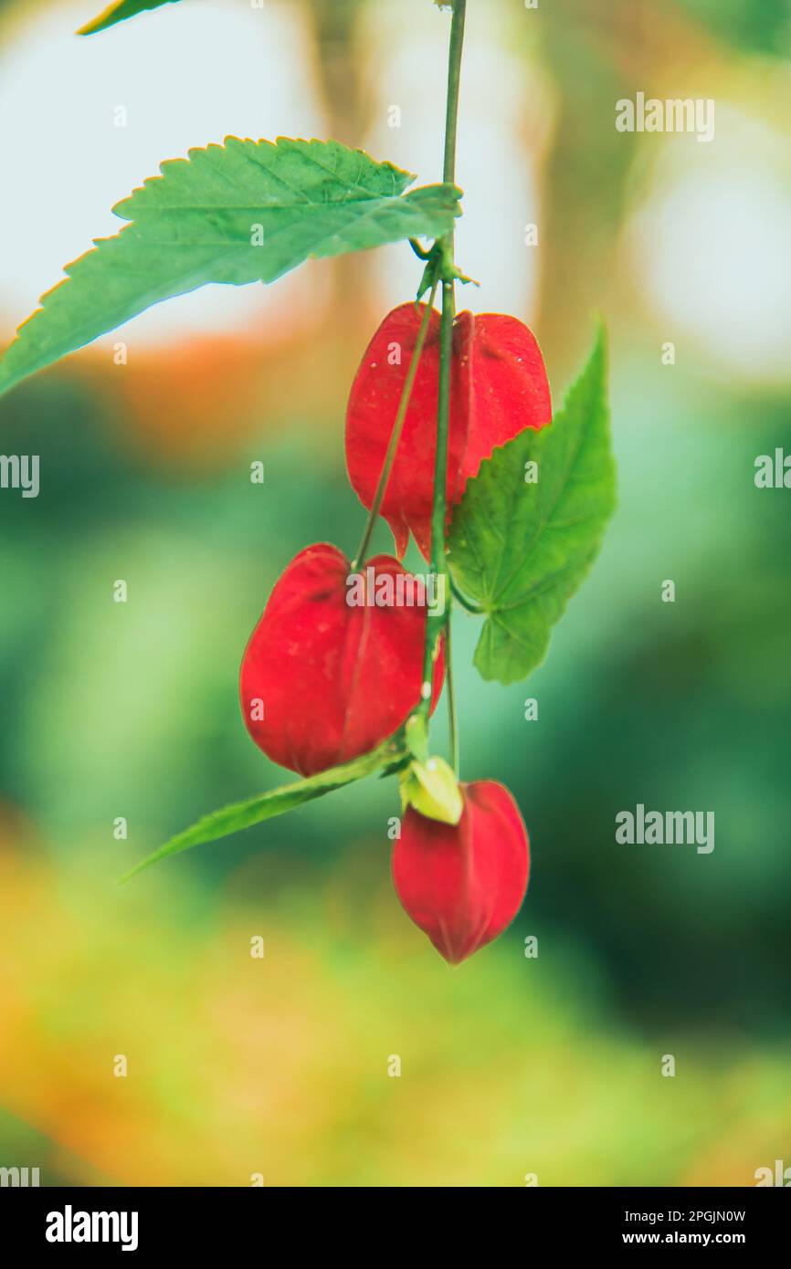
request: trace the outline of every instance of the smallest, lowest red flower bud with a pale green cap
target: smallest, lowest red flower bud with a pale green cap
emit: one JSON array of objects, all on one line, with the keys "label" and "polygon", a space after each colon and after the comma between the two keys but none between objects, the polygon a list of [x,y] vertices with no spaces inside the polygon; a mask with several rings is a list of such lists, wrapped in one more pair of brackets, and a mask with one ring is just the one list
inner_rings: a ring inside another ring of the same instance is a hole
[{"label": "smallest, lowest red flower bud with a pale green cap", "polygon": [[409,807],[392,853],[392,879],[406,915],[458,964],[496,939],[522,906],[529,873],[527,829],[495,780],[462,784],[457,825]]}]

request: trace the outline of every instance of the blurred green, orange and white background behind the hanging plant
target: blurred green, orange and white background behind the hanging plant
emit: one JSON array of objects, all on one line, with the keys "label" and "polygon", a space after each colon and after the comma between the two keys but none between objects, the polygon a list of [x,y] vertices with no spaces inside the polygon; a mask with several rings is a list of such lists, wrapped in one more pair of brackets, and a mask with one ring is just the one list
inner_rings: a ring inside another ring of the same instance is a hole
[{"label": "blurred green, orange and white background behind the hanging plant", "polygon": [[[190,145],[335,136],[437,179],[429,0],[184,0],[75,38],[98,8],[0,5],[0,340]],[[510,786],[533,849],[519,919],[457,971],[392,892],[392,782],[116,886],[282,779],[239,660],[286,562],[358,541],[345,398],[415,291],[409,249],[207,288],[0,404],[0,450],[42,471],[37,500],[0,495],[0,1165],[373,1187],[791,1165],[791,494],[753,481],[791,450],[790,52],[786,0],[470,0],[460,302],[533,326],[556,401],[604,315],[620,509],[527,684],[480,681],[456,619],[462,774]],[[715,140],[616,132],[637,91],[714,98]],[[715,851],[617,845],[637,802],[715,811]]]}]

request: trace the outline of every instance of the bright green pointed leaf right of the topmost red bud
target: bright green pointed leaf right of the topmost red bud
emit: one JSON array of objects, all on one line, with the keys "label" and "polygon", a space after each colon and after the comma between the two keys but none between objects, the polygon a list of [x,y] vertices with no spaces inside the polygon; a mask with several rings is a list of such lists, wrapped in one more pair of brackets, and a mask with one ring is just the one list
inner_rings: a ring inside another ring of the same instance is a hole
[{"label": "bright green pointed leaf right of the topmost red bud", "polygon": [[[526,482],[528,463],[537,464],[536,483]],[[495,449],[456,508],[448,563],[456,586],[486,615],[475,650],[484,679],[515,683],[541,664],[615,505],[602,329],[552,424]]]}]

